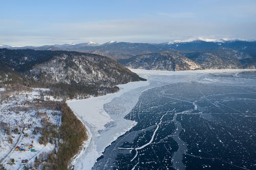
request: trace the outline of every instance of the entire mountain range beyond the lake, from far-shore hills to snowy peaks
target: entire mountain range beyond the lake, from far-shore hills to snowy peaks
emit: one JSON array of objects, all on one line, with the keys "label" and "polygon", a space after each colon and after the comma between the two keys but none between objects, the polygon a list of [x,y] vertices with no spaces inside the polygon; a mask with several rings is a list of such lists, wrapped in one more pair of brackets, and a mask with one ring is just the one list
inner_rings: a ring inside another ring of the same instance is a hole
[{"label": "entire mountain range beyond the lake, from far-shore hills to snowy peaks", "polygon": [[98,54],[129,68],[160,70],[255,68],[256,41],[202,39],[165,43],[110,41],[62,45],[10,47],[47,51],[77,51]]}]

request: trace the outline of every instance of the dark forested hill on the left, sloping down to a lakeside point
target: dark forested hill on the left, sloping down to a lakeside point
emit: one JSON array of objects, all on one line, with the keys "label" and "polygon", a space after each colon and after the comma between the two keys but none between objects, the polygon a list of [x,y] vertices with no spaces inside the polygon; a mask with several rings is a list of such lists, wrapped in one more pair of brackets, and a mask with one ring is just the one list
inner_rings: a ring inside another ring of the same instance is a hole
[{"label": "dark forested hill on the left, sloping down to a lakeside point", "polygon": [[114,92],[117,84],[142,80],[108,57],[79,52],[2,48],[0,66],[2,86],[51,87],[69,98]]}]

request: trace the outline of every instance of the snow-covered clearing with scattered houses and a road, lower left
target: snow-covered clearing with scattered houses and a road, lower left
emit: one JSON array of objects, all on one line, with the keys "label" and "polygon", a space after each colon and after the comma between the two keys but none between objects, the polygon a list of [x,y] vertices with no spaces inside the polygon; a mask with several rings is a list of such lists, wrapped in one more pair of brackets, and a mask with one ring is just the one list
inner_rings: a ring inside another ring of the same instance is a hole
[{"label": "snow-covered clearing with scattered houses and a road, lower left", "polygon": [[[53,99],[52,96],[41,95],[42,91],[47,90],[49,89],[0,92],[0,164],[6,169],[23,168],[24,165],[33,163],[41,153],[53,151],[53,144],[39,144],[41,135],[37,130],[42,126],[42,119],[60,126],[61,112],[33,105],[34,100]],[[20,150],[15,151],[16,147]],[[14,159],[13,162],[11,159]],[[22,163],[22,160],[26,162]]]}]

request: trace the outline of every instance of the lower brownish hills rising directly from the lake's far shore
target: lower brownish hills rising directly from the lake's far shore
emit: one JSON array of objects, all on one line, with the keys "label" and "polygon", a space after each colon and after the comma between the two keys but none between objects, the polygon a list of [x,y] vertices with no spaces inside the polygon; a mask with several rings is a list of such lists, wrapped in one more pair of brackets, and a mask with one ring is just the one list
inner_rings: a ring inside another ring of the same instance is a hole
[{"label": "lower brownish hills rising directly from the lake's far shore", "polygon": [[119,59],[129,68],[156,70],[194,70],[194,69],[243,69],[255,68],[256,60],[249,54],[229,48],[216,48],[197,52],[167,51],[137,55],[130,59]]}]

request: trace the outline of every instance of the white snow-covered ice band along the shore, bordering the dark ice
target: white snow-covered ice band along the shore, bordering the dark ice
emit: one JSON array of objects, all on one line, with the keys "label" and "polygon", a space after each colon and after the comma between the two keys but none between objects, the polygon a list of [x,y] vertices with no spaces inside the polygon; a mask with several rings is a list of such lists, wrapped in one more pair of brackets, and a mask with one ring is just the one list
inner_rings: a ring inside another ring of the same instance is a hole
[{"label": "white snow-covered ice band along the shore, bordering the dark ice", "polygon": [[[140,94],[147,89],[171,83],[193,81],[197,78],[216,72],[241,72],[248,70],[196,70],[196,71],[158,71],[131,69],[147,82],[132,82],[119,85],[120,91],[96,98],[68,101],[69,107],[86,125],[89,140],[84,149],[73,161],[75,169],[91,169],[97,158],[108,145],[120,135],[129,131],[136,122],[124,119],[138,101]],[[206,81],[201,79],[201,81]],[[209,82],[211,83],[211,82]]]}]

